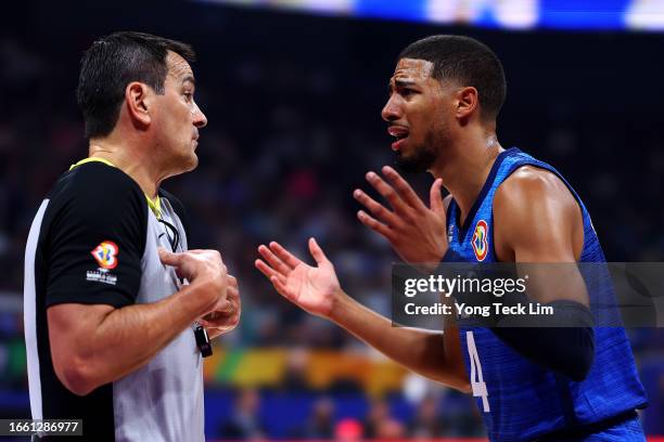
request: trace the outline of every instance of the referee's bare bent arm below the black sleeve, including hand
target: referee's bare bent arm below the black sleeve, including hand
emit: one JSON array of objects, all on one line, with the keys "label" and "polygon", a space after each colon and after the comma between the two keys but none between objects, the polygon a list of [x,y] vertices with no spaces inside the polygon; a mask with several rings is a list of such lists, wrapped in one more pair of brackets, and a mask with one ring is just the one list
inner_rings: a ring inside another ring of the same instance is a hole
[{"label": "referee's bare bent arm below the black sleeve, including hand", "polygon": [[158,302],[48,309],[53,367],[69,391],[85,395],[141,367],[226,296],[226,269],[217,251],[174,257],[173,264],[190,285]]}]

